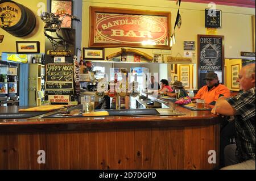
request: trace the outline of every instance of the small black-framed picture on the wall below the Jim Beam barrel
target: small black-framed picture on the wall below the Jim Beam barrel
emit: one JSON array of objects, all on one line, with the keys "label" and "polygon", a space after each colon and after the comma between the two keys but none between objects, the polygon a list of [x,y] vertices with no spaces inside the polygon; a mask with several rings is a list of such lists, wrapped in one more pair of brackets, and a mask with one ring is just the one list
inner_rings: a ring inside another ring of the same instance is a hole
[{"label": "small black-framed picture on the wall below the Jim Beam barrel", "polygon": [[17,53],[40,53],[39,41],[16,41]]}]

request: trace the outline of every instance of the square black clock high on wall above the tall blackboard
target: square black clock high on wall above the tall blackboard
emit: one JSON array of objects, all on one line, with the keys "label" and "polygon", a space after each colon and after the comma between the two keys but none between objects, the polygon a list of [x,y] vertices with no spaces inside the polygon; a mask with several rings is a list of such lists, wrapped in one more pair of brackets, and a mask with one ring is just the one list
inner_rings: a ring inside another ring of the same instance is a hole
[{"label": "square black clock high on wall above the tall blackboard", "polygon": [[205,27],[221,27],[221,10],[205,9]]}]

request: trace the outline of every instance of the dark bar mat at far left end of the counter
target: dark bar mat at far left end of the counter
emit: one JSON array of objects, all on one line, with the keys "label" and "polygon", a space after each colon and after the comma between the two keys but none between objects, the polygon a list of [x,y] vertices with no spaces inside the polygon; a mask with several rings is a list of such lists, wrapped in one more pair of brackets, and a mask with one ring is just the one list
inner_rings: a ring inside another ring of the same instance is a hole
[{"label": "dark bar mat at far left end of the counter", "polygon": [[22,118],[30,118],[34,116],[43,115],[48,112],[14,112],[14,113],[0,113],[0,119],[22,119]]}]

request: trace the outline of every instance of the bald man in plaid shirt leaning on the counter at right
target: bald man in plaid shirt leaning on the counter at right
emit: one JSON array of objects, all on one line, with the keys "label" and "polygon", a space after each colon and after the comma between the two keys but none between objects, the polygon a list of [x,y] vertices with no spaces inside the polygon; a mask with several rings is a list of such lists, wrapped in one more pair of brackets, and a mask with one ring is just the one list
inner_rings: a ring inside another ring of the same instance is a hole
[{"label": "bald man in plaid shirt leaning on the counter at right", "polygon": [[214,114],[235,117],[236,144],[225,147],[222,169],[255,170],[255,64],[244,66],[237,82],[243,92],[221,97],[212,109]]}]

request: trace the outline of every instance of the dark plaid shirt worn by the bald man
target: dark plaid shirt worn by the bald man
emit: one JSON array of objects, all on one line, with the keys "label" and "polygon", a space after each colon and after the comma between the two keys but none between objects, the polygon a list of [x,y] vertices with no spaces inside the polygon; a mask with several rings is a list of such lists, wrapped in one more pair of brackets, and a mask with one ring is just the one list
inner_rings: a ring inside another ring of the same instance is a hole
[{"label": "dark plaid shirt worn by the bald man", "polygon": [[255,159],[255,87],[228,99],[236,110],[236,156],[240,162]]}]

